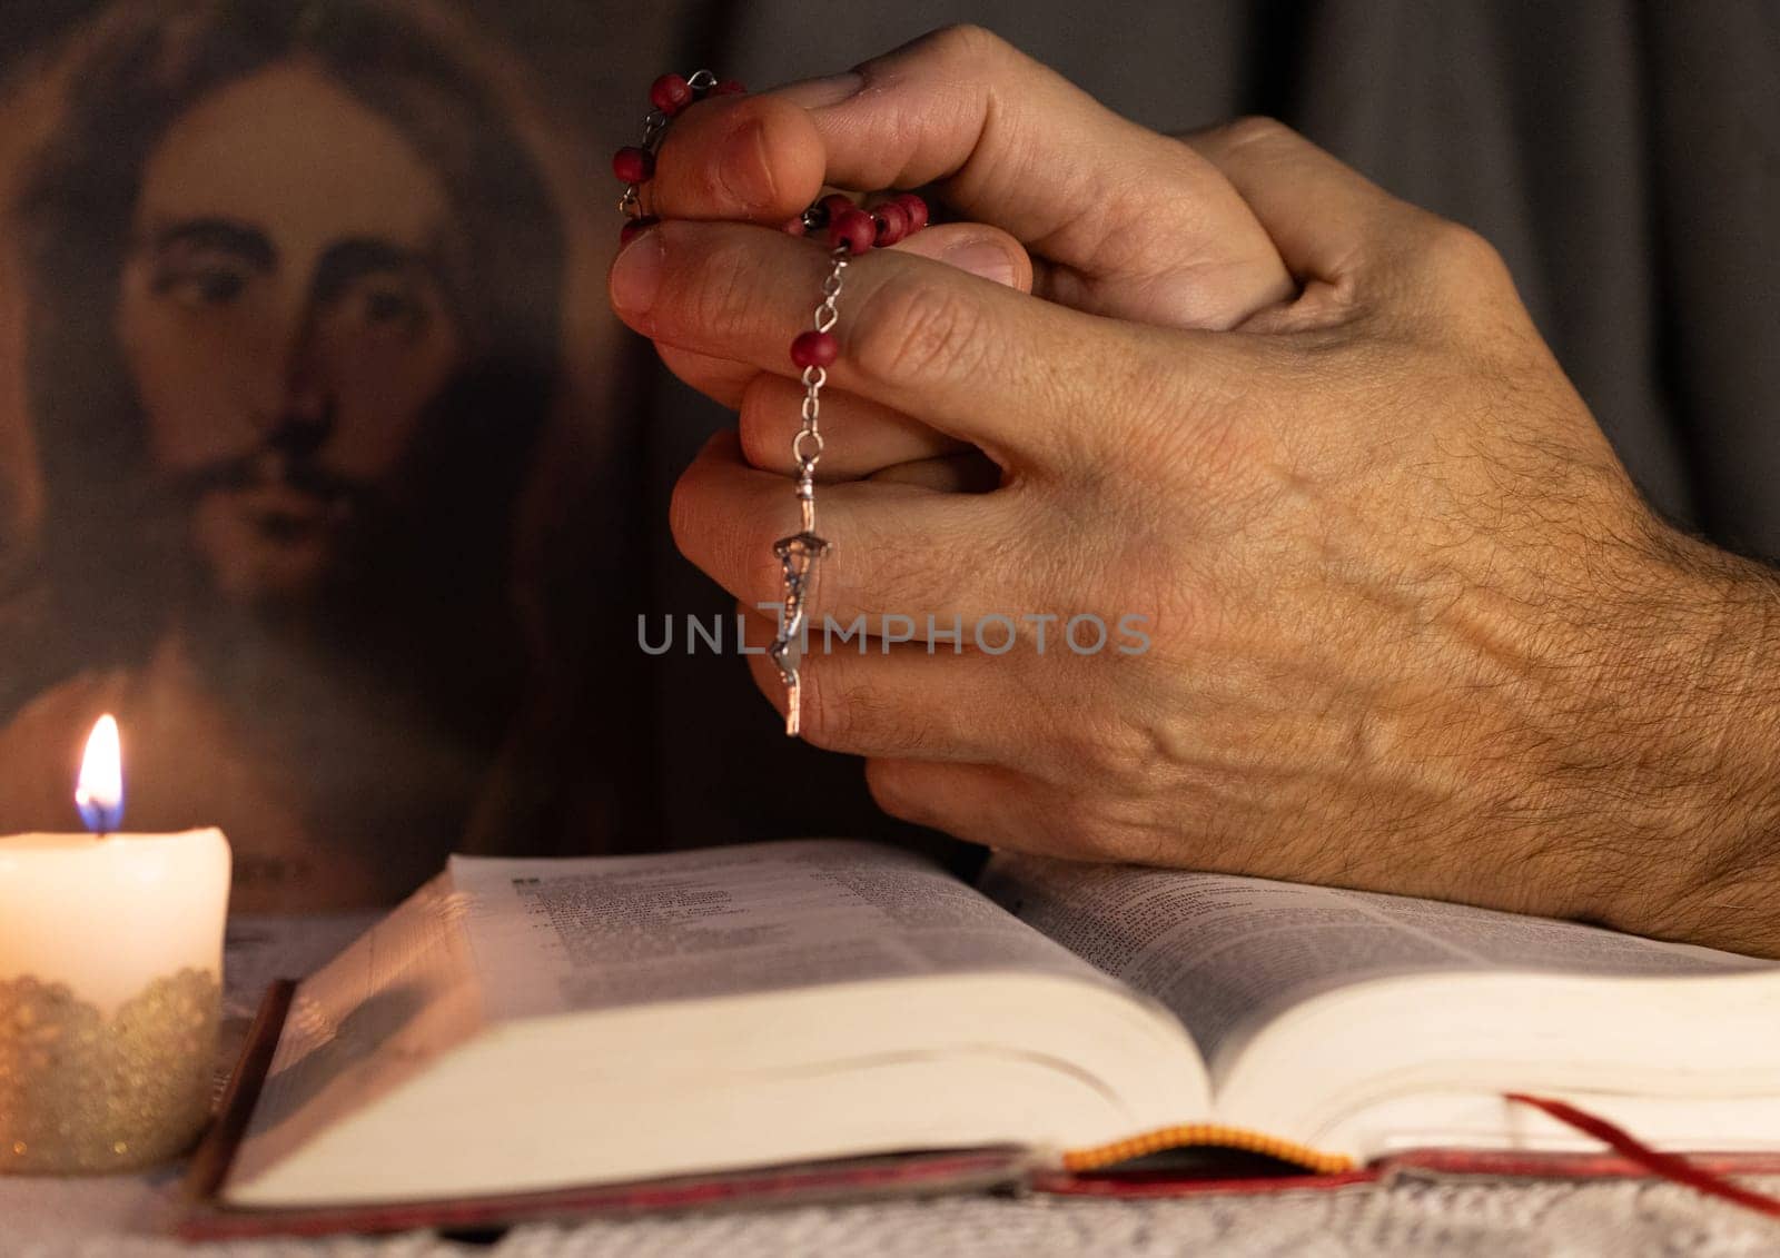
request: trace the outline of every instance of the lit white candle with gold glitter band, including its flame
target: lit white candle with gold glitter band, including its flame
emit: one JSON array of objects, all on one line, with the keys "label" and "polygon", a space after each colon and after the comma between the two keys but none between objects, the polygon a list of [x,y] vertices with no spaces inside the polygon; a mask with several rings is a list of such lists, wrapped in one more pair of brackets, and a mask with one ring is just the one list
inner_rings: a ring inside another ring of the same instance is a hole
[{"label": "lit white candle with gold glitter band, including its flame", "polygon": [[123,1171],[210,1116],[230,849],[121,833],[117,722],[75,786],[87,835],[0,838],[0,1171]]}]

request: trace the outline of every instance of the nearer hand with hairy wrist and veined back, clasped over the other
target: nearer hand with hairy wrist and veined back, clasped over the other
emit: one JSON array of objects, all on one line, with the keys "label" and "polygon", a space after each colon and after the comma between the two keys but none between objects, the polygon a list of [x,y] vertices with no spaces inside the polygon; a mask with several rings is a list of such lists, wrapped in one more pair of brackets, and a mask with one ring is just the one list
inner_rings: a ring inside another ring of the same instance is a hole
[{"label": "nearer hand with hairy wrist and veined back, clasped over the other", "polygon": [[[1016,196],[1013,167],[1073,160],[1080,189],[1114,196],[1118,164],[1047,148],[1098,116],[1050,107],[988,160],[942,146],[947,169],[840,169],[942,180],[951,199],[949,169],[1009,167],[995,187]],[[1250,308],[1232,331],[1141,297],[1118,310],[1112,281],[1045,301],[899,249],[849,269],[829,381],[860,409],[829,448],[895,461],[967,443],[1000,477],[975,495],[822,489],[835,550],[817,616],[874,632],[956,617],[963,641],[888,633],[858,655],[817,635],[808,740],[867,756],[888,811],[984,843],[1780,954],[1780,587],[1648,511],[1476,235],[1271,123],[1191,149],[1203,165],[1173,196],[1241,224],[1235,194],[1296,281],[1271,302],[1232,283],[1221,301]],[[1020,222],[995,196],[967,212]],[[1143,219],[1191,254],[1214,247],[1194,235],[1207,214]],[[1036,270],[1080,265],[1006,230]],[[659,267],[648,299],[627,274],[643,260]],[[669,221],[630,246],[614,301],[682,363],[794,399],[785,347],[822,270],[781,233]],[[1088,292],[1091,310],[1064,304]],[[756,423],[789,445],[796,402],[780,406]],[[778,596],[771,543],[794,511],[783,452],[755,457],[748,429],[744,407],[744,439],[707,447],[673,523],[753,609]],[[885,445],[892,429],[902,445]],[[1072,635],[1072,617],[1093,619]]]}]

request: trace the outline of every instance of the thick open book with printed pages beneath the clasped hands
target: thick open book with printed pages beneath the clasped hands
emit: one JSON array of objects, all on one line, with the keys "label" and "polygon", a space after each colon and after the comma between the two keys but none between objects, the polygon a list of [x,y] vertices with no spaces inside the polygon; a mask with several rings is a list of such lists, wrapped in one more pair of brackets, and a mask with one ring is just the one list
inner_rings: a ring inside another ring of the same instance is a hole
[{"label": "thick open book with printed pages beneath the clasped hands", "polygon": [[466,859],[290,1007],[221,1201],[538,1192],[911,1149],[1780,1149],[1780,966],[1246,877],[797,840]]}]

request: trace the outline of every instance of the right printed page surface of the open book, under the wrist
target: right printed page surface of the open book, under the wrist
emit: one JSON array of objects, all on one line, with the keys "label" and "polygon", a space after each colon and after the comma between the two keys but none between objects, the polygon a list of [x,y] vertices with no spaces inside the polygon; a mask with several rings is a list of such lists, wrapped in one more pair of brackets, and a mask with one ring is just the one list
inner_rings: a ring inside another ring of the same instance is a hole
[{"label": "right printed page surface of the open book, under the wrist", "polygon": [[1282,1009],[1385,975],[1675,977],[1773,968],[1574,922],[1226,874],[997,856],[981,886],[1047,936],[1162,1002],[1214,1077]]}]

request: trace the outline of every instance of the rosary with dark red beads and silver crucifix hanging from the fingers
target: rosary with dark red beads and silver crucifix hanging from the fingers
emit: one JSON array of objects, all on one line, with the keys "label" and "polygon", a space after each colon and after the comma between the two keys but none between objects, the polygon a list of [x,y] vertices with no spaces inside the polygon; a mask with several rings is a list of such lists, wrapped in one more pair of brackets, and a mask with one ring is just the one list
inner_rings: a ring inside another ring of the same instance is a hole
[{"label": "rosary with dark red beads and silver crucifix hanging from the fingers", "polygon": [[[655,153],[668,130],[668,121],[705,96],[735,96],[744,91],[733,78],[719,82],[708,69],[700,69],[691,78],[662,75],[650,85],[650,103],[655,109],[643,119],[643,142],[625,146],[612,157],[612,173],[625,181],[618,210],[628,219],[619,231],[619,244],[628,244],[634,235],[660,222],[657,215],[643,212],[641,194],[643,185],[655,174]],[[792,737],[799,730],[797,669],[803,664],[806,644],[810,594],[815,587],[817,562],[829,550],[829,543],[815,532],[815,464],[822,457],[822,431],[817,415],[822,406],[821,393],[828,381],[828,367],[840,352],[840,343],[831,331],[835,320],[840,319],[835,310],[835,302],[840,301],[840,278],[849,258],[856,258],[872,246],[892,246],[924,226],[927,226],[927,203],[913,192],[899,192],[870,210],[860,208],[842,192],[831,192],[783,224],[783,230],[796,237],[826,233],[829,247],[829,272],[828,279],[822,281],[822,302],[815,308],[815,327],[799,333],[790,343],[790,361],[803,368],[806,390],[803,427],[790,443],[792,472],[797,479],[799,528],[773,543],[773,553],[778,555],[780,568],[785,571],[785,596],[780,607],[778,632],[767,655],[785,683],[785,733]]]}]

